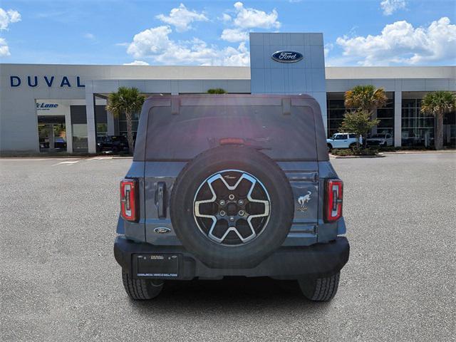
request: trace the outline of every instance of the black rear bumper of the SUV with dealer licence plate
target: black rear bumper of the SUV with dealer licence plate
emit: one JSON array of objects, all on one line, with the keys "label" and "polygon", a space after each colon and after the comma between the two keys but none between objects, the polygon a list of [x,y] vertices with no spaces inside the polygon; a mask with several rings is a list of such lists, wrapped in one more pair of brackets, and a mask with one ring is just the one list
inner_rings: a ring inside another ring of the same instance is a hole
[{"label": "black rear bumper of the SUV with dealer licence plate", "polygon": [[[281,247],[250,269],[211,269],[183,247],[155,246],[117,237],[114,256],[134,278],[190,280],[224,276],[270,276],[276,279],[320,278],[340,271],[348,261],[346,237],[307,247]],[[145,271],[147,269],[147,271]]]}]

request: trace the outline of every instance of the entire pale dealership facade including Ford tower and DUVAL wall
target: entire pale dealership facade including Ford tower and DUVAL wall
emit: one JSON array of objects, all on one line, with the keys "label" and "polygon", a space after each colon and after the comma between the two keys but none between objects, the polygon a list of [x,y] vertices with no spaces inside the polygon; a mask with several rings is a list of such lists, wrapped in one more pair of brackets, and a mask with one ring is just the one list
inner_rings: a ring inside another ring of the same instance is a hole
[{"label": "entire pale dealership facade including Ford tower and DUVAL wall", "polygon": [[[373,84],[395,93],[395,145],[401,142],[403,93],[456,91],[455,66],[322,68],[321,33],[254,33],[251,40],[252,69],[0,64],[0,152],[39,151],[36,100],[83,100],[89,152],[95,152],[93,96],[106,95],[119,86],[135,86],[143,93],[205,93],[217,87],[229,93],[311,93],[326,118],[326,92]],[[274,62],[271,53],[275,49],[298,51],[304,58],[299,63]],[[21,85],[11,86],[11,77],[16,83],[14,77],[20,78]]]}]

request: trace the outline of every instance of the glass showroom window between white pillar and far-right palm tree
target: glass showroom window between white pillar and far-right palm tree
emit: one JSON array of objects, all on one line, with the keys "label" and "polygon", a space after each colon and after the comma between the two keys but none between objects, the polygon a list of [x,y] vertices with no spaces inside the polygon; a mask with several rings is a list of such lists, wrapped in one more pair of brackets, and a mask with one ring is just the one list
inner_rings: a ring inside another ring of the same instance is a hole
[{"label": "glass showroom window between white pillar and far-right palm tree", "polygon": [[434,144],[434,118],[420,113],[420,98],[402,100],[402,145],[431,146]]}]

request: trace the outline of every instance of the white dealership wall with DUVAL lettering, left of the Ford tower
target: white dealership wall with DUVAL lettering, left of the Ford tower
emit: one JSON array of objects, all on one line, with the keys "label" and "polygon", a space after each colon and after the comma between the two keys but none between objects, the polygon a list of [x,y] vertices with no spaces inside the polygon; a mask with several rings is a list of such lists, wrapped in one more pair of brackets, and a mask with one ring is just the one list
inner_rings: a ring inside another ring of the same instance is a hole
[{"label": "white dealership wall with DUVAL lettering, left of the Ford tower", "polygon": [[97,90],[92,80],[112,80],[111,90],[142,80],[138,84],[145,93],[201,93],[214,86],[250,92],[250,71],[245,67],[0,64],[0,152],[39,151],[36,99],[84,100],[89,138],[94,142],[89,121],[93,97],[86,98],[86,91]]}]

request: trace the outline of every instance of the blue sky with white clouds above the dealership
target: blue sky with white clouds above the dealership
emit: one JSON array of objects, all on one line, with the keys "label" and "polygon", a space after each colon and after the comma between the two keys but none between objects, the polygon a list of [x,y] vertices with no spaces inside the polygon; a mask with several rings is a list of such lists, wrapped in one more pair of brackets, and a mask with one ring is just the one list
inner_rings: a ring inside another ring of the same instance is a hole
[{"label": "blue sky with white clouds above the dealership", "polygon": [[249,64],[249,31],[323,32],[329,66],[456,61],[456,1],[0,2],[1,63]]}]

